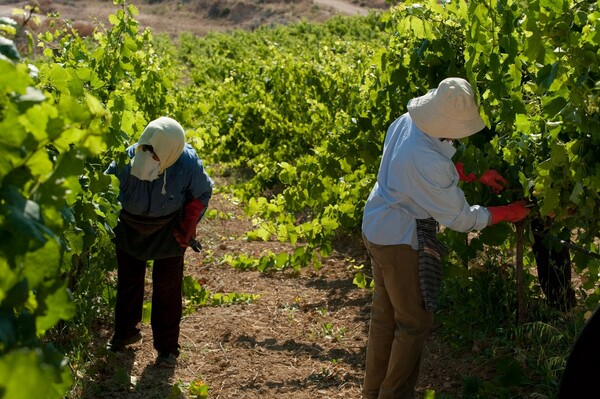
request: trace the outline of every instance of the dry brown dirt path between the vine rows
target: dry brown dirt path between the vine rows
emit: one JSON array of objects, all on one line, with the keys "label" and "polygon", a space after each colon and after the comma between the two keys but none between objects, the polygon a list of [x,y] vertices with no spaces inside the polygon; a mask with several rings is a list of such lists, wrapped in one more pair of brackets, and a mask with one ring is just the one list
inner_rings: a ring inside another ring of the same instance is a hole
[{"label": "dry brown dirt path between the vine rows", "polygon": [[[179,365],[154,367],[152,332],[124,353],[104,345],[110,326],[97,329],[96,357],[79,373],[71,398],[194,398],[190,384],[202,381],[209,398],[360,398],[371,293],[353,285],[354,266],[365,262],[362,244],[341,242],[324,266],[295,272],[239,271],[224,263],[227,254],[260,256],[278,252],[278,242],[244,239],[252,229],[243,205],[224,193],[213,196],[218,217],[198,226],[203,251],[186,253],[186,275],[212,293],[258,295],[245,304],[203,306],[181,323]],[[151,281],[148,281],[148,299]],[[473,367],[440,343],[427,341],[419,382],[439,394],[457,394],[462,372]],[[418,396],[419,398],[421,396]]]}]

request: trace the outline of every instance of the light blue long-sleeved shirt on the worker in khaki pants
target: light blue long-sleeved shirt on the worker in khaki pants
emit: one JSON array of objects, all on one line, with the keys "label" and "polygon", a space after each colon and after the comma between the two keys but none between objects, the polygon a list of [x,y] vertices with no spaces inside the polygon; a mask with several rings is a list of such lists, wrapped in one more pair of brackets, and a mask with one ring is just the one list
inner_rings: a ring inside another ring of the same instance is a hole
[{"label": "light blue long-sleeved shirt on the worker in khaki pants", "polygon": [[405,113],[388,128],[377,182],[363,213],[362,231],[372,243],[418,249],[416,219],[434,218],[467,232],[488,225],[489,211],[470,206],[458,187],[449,141],[428,136]]}]

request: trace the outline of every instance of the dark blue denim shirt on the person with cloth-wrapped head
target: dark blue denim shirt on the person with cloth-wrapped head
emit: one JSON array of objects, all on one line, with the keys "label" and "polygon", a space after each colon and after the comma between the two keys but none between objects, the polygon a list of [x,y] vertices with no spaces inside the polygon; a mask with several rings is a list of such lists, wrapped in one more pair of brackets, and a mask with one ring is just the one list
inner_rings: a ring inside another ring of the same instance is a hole
[{"label": "dark blue denim shirt on the person with cloth-wrapped head", "polygon": [[[137,143],[127,148],[130,158]],[[127,212],[148,217],[162,217],[177,212],[188,201],[199,198],[205,209],[212,195],[212,179],[204,171],[194,148],[186,144],[177,161],[153,181],[131,175],[131,163],[120,170],[113,161],[106,173],[119,178],[119,201]],[[165,175],[166,174],[166,175]],[[166,193],[162,194],[163,185]]]}]

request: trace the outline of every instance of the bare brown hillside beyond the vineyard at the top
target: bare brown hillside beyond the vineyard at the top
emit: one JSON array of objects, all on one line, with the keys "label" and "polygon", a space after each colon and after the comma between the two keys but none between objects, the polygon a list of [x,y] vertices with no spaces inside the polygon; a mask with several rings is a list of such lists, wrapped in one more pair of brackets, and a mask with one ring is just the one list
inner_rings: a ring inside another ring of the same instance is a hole
[{"label": "bare brown hillside beyond the vineyard at the top", "polygon": [[[38,13],[58,13],[77,26],[107,24],[117,6],[111,0],[0,1],[0,16],[13,9],[38,5]],[[142,27],[176,37],[182,32],[205,35],[210,31],[254,29],[265,24],[289,24],[301,20],[322,22],[334,15],[364,15],[389,7],[385,0],[144,0],[130,1],[140,14]]]}]

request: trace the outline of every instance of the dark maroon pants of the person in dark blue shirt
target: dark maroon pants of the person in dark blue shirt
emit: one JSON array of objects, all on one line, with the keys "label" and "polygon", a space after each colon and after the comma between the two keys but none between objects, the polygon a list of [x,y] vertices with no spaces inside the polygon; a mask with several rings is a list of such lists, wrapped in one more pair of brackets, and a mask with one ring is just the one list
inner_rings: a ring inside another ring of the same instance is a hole
[{"label": "dark maroon pants of the person in dark blue shirt", "polygon": [[[118,282],[115,338],[129,338],[139,331],[144,305],[146,261],[117,248]],[[183,256],[154,261],[152,266],[151,325],[154,348],[179,354],[182,314]]]}]

